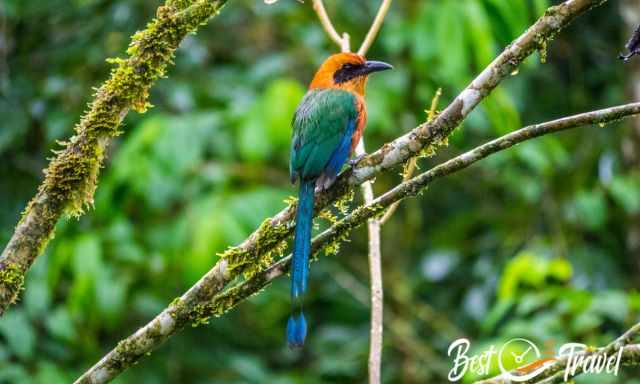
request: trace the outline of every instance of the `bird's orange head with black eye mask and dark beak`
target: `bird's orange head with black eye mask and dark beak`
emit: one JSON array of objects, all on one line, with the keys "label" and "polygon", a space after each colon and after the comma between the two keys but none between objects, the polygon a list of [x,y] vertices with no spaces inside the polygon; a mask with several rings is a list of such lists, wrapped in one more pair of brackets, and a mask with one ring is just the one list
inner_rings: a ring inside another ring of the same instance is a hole
[{"label": "bird's orange head with black eye mask and dark beak", "polygon": [[309,88],[341,88],[364,96],[369,74],[391,68],[390,64],[366,60],[355,53],[337,53],[322,63]]}]

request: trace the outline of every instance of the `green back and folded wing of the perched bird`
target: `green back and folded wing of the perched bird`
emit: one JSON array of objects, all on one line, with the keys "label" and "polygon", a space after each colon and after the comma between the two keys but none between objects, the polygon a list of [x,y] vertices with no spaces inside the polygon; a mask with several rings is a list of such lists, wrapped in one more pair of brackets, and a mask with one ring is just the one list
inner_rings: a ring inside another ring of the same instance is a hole
[{"label": "green back and folded wing of the perched bird", "polygon": [[291,181],[322,175],[331,155],[357,119],[356,99],[340,89],[311,90],[293,115]]}]

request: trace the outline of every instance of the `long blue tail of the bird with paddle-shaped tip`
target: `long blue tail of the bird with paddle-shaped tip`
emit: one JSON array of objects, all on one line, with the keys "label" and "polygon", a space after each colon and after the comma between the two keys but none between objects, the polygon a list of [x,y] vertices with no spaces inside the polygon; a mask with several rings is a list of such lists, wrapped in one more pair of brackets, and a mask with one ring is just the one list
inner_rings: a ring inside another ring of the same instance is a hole
[{"label": "long blue tail of the bird with paddle-shaped tip", "polygon": [[307,321],[302,313],[302,295],[307,290],[307,277],[309,275],[315,184],[315,180],[302,181],[298,194],[296,233],[293,238],[293,261],[291,262],[291,301],[293,310],[287,322],[287,343],[292,348],[302,347],[307,336]]}]

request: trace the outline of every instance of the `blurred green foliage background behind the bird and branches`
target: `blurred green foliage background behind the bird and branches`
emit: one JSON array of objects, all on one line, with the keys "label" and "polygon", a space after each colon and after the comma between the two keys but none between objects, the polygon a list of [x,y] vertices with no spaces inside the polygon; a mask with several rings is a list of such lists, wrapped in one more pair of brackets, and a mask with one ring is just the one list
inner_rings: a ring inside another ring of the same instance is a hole
[{"label": "blurred green foliage background behind the bird and branches", "polygon": [[[169,78],[153,89],[155,108],[129,114],[110,147],[95,209],[58,225],[19,305],[0,319],[0,382],[70,382],[295,194],[290,118],[335,50],[308,3],[231,1],[184,42]],[[0,3],[2,243],[55,141],[71,134],[106,78],[105,59],[123,54],[158,4]],[[377,5],[327,0],[354,45]],[[396,69],[369,84],[368,147],[422,122],[438,87],[443,107],[548,5],[394,2],[369,54]],[[637,70],[616,60],[625,37],[616,2],[578,19],[544,53],[546,64],[528,59],[421,168],[522,124],[624,102]],[[459,337],[478,351],[512,337],[602,345],[638,321],[640,172],[621,150],[630,132],[625,121],[528,142],[401,206],[383,231],[385,382],[444,382],[446,350]],[[399,179],[380,176],[375,189]],[[301,352],[284,343],[281,279],[174,337],[116,382],[363,382],[366,263],[364,231],[339,257],[314,263]],[[616,380],[631,382],[579,382]]]}]

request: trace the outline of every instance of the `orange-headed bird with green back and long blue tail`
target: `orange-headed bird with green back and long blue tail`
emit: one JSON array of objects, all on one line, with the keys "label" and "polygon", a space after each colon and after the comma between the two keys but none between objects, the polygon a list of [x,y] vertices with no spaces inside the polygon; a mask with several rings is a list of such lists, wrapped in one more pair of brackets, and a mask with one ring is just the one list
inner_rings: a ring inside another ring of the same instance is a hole
[{"label": "orange-headed bird with green back and long blue tail", "polygon": [[307,335],[302,299],[309,275],[314,194],[331,186],[362,137],[368,76],[392,68],[356,53],[331,55],[295,110],[289,174],[291,182],[299,181],[300,187],[291,262],[292,311],[286,330],[291,348],[302,347]]}]

